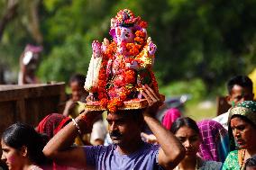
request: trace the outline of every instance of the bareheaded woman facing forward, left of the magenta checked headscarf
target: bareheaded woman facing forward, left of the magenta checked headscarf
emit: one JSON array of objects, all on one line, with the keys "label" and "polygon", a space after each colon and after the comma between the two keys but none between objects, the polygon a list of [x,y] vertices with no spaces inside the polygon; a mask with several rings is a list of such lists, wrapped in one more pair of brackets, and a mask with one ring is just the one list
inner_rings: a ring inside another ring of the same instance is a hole
[{"label": "bareheaded woman facing forward, left of the magenta checked headscarf", "polygon": [[199,169],[199,170],[218,170],[222,163],[215,161],[206,161],[197,157],[199,146],[202,141],[197,122],[191,118],[178,118],[171,125],[170,131],[179,139],[186,149],[186,156],[175,167],[175,170]]}]

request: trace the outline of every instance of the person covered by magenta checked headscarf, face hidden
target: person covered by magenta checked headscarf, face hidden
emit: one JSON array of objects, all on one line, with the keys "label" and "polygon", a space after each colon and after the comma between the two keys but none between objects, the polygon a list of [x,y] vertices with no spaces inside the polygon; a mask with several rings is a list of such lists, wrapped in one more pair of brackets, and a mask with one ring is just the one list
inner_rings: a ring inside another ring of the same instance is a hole
[{"label": "person covered by magenta checked headscarf, face hidden", "polygon": [[229,153],[227,130],[220,123],[212,120],[199,121],[197,126],[202,138],[198,152],[200,157],[204,160],[224,163]]}]

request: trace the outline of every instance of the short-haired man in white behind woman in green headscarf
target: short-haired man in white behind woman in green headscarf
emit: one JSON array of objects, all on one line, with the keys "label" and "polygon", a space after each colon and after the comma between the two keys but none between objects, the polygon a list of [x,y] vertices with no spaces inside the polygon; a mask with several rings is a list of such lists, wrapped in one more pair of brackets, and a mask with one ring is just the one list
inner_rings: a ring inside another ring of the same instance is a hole
[{"label": "short-haired man in white behind woman in green headscarf", "polygon": [[[252,101],[254,97],[252,88],[253,85],[248,76],[233,76],[227,83],[227,103],[234,106],[243,101]],[[229,111],[215,117],[213,121],[221,123],[228,130],[228,117]]]}]

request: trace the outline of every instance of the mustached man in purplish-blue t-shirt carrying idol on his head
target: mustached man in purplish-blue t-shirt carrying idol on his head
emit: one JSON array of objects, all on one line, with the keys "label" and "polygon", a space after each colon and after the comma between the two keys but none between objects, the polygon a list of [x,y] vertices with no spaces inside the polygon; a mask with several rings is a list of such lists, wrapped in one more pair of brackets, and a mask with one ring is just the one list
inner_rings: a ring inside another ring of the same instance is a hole
[{"label": "mustached man in purplish-blue t-shirt carrying idol on his head", "polygon": [[[149,103],[145,110],[119,110],[107,114],[108,130],[114,144],[70,148],[77,134],[90,130],[96,116],[102,113],[86,111],[50,139],[43,153],[59,164],[92,169],[172,169],[184,157],[185,149],[152,116],[160,106],[160,97],[147,85],[143,87],[142,95]],[[142,141],[143,121],[155,134],[160,146]]]}]

